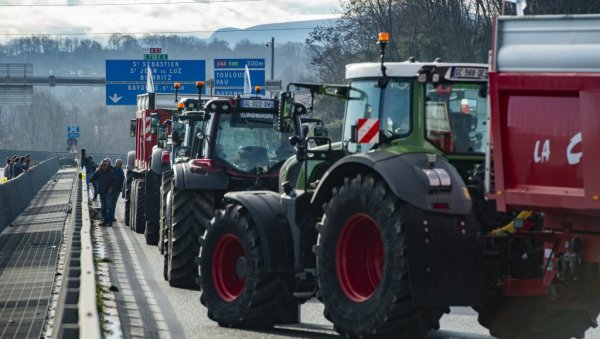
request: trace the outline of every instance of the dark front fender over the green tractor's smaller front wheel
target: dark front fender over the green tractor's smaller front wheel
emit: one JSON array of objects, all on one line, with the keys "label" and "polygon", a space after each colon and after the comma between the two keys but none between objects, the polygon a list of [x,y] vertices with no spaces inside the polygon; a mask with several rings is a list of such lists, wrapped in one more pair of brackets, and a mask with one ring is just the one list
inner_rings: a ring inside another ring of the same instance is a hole
[{"label": "dark front fender over the green tractor's smaller front wheel", "polygon": [[291,227],[280,203],[279,194],[271,191],[230,192],[226,201],[242,205],[252,217],[258,231],[268,272],[294,271],[294,243]]}]

